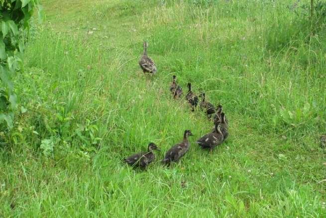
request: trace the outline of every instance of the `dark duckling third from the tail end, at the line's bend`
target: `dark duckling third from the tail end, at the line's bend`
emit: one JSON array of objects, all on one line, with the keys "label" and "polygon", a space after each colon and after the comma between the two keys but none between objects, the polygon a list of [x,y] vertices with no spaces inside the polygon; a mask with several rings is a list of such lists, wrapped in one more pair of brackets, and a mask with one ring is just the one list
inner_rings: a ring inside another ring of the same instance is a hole
[{"label": "dark duckling third from the tail end, at the line's bend", "polygon": [[210,148],[211,151],[223,142],[223,133],[220,130],[221,125],[219,121],[215,124],[215,131],[210,132],[196,141],[202,148]]}]

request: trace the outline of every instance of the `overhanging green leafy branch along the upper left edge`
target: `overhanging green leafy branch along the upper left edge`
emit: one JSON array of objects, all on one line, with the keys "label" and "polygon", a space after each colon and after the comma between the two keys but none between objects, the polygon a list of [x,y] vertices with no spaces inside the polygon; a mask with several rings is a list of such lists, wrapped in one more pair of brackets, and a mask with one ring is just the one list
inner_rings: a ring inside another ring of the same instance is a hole
[{"label": "overhanging green leafy branch along the upper left edge", "polygon": [[0,128],[11,128],[17,96],[12,77],[21,70],[25,30],[38,0],[0,0]]}]

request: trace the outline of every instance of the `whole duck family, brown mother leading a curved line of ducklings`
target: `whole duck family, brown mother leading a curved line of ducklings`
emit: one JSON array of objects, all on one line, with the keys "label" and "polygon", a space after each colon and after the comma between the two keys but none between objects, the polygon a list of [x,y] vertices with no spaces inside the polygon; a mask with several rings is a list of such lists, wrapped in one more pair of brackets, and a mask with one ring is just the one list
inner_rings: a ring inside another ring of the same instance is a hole
[{"label": "whole duck family, brown mother leading a curved line of ducklings", "polygon": [[[148,43],[143,43],[144,53],[139,60],[139,66],[144,73],[149,73],[154,75],[157,72],[154,61],[147,56]],[[175,100],[182,98],[183,91],[180,85],[177,84],[177,77],[173,75],[172,84],[170,86],[170,92]],[[199,97],[202,101],[199,103]],[[188,92],[185,96],[188,101],[192,111],[198,106],[206,112],[209,119],[214,122],[214,129],[206,135],[199,138],[196,143],[199,144],[203,149],[209,149],[211,152],[213,149],[223,143],[228,136],[228,121],[225,117],[225,113],[222,112],[222,106],[217,105],[217,108],[213,104],[206,101],[205,93],[196,95],[191,89],[191,83],[188,83]],[[161,160],[162,163],[170,165],[172,162],[178,162],[189,150],[190,142],[188,137],[192,136],[191,130],[185,130],[183,135],[183,140],[180,143],[173,145],[168,151],[166,151],[164,159]],[[154,143],[148,144],[148,150],[137,154],[133,154],[124,159],[124,162],[137,168],[146,168],[155,159],[154,150],[160,151],[158,146]]]}]

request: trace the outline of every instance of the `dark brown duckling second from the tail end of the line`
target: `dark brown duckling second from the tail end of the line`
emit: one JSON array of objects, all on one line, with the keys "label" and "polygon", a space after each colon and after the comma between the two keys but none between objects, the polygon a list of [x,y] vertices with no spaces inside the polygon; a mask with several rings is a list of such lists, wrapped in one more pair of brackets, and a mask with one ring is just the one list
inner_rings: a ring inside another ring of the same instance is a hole
[{"label": "dark brown duckling second from the tail end of the line", "polygon": [[166,153],[165,158],[162,160],[164,164],[170,164],[171,162],[177,162],[183,157],[190,147],[188,136],[192,136],[193,133],[190,130],[185,130],[182,142],[173,145]]}]

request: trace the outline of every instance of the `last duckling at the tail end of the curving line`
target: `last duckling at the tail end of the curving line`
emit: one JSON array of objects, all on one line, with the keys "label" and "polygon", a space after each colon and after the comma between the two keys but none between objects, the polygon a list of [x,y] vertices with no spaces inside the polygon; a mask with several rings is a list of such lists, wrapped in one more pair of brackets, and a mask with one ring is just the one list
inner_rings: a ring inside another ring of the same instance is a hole
[{"label": "last duckling at the tail end of the curving line", "polygon": [[153,150],[160,151],[156,144],[153,142],[148,144],[147,152],[140,152],[129,157],[126,157],[123,161],[130,166],[145,168],[150,164],[154,159],[155,155]]}]

